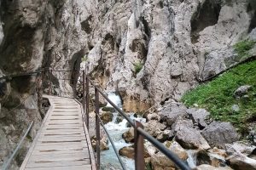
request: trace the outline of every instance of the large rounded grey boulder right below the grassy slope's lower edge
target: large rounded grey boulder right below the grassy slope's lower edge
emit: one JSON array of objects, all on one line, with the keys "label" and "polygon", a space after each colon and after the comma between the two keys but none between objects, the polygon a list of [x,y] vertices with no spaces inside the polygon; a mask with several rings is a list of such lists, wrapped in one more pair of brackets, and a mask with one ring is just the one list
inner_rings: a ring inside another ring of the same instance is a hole
[{"label": "large rounded grey boulder right below the grassy slope's lower edge", "polygon": [[202,135],[212,147],[219,148],[224,148],[224,144],[230,144],[240,138],[230,122],[212,122],[202,131]]}]

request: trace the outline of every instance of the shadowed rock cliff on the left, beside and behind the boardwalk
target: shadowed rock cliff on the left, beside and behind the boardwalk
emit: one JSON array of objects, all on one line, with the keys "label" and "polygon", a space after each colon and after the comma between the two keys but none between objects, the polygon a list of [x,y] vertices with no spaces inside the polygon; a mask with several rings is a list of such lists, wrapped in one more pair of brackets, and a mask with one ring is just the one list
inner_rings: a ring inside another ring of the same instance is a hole
[{"label": "shadowed rock cliff on the left, beside and behind the boardwalk", "polygon": [[[85,20],[92,2],[14,0],[0,1],[0,77],[20,72],[51,67],[71,70],[53,72],[44,77],[47,91],[49,77],[54,82],[54,93],[71,96],[81,57],[86,47],[86,33],[81,20]],[[89,9],[88,9],[89,8]],[[34,126],[23,144],[20,156],[13,162],[23,161],[31,139],[42,121],[38,111],[38,77],[15,77],[0,80],[0,167],[10,156],[29,123]]]}]

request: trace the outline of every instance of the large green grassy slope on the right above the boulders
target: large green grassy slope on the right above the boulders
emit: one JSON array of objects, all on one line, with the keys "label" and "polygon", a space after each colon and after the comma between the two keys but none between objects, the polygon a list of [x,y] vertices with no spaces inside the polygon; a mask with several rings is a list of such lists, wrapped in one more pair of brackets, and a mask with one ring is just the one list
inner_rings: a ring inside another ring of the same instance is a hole
[{"label": "large green grassy slope on the right above the boulders", "polygon": [[[252,89],[247,98],[236,99],[234,92],[242,85],[250,85]],[[206,108],[213,119],[232,122],[241,133],[247,133],[248,123],[256,121],[256,61],[226,71],[184,94],[182,100],[185,105]],[[232,111],[232,105],[239,105],[240,111]]]}]

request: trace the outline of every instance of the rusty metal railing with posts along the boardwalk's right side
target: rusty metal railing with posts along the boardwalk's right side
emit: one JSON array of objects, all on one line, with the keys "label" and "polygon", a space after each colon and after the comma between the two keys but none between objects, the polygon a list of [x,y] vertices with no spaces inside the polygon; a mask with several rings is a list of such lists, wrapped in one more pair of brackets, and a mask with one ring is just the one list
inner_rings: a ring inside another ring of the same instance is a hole
[{"label": "rusty metal railing with posts along the boardwalk's right side", "polygon": [[[102,90],[96,86],[94,82],[90,80],[88,76],[85,75],[85,72],[83,71],[83,107],[85,110],[85,116],[86,116],[86,125],[89,130],[89,82],[95,88],[95,112],[96,112],[96,165],[97,168],[100,169],[100,163],[101,163],[101,150],[100,150],[100,124],[102,125],[104,131],[108,135],[108,139],[110,140],[110,143],[113,145],[113,150],[116,154],[116,156],[119,159],[119,162],[121,164],[121,167],[125,169],[124,163],[121,161],[121,158],[119,156],[118,151],[116,150],[113,140],[108,134],[108,130],[104,127],[102,120],[99,115],[100,107],[99,107],[99,94],[102,95],[104,99],[108,101],[110,105],[113,106],[113,108],[125,118],[127,122],[131,125],[131,127],[134,128],[134,143],[135,143],[135,168],[137,170],[144,170],[145,169],[145,160],[144,160],[144,139],[147,139],[151,144],[153,144],[158,150],[160,150],[163,154],[165,154],[170,160],[172,160],[177,167],[183,169],[183,170],[189,170],[189,166],[179,159],[176,154],[172,153],[171,150],[168,150],[164,144],[161,144],[157,139],[154,139],[151,135],[149,135],[146,131],[143,130],[143,124],[141,122],[132,121],[129,116],[125,114],[124,111],[122,111],[117,105],[114,105],[114,103],[108,99],[108,96],[102,92]],[[85,99],[84,99],[85,98]]]}]

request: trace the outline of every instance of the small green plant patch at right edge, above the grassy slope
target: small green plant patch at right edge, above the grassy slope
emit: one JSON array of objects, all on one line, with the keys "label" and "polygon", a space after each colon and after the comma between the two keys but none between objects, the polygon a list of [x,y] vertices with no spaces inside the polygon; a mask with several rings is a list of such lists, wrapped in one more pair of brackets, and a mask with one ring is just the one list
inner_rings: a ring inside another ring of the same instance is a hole
[{"label": "small green plant patch at right edge, above the grassy slope", "polygon": [[234,48],[240,59],[246,59],[247,57],[250,57],[248,52],[255,44],[256,41],[244,40],[237,42],[236,45],[234,45]]}]

